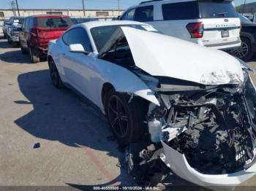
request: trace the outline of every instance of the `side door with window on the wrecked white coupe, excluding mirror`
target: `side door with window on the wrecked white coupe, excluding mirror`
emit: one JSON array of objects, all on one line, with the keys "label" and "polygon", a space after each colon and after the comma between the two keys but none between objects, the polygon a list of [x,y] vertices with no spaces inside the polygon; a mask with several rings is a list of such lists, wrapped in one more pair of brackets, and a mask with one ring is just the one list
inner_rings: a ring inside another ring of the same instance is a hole
[{"label": "side door with window on the wrecked white coupe, excluding mirror", "polygon": [[86,55],[85,53],[69,51],[70,44],[82,44],[84,50],[92,52],[89,36],[84,28],[77,27],[69,30],[63,37],[66,46],[61,55],[61,63],[65,77],[72,87],[75,87],[92,101],[93,98],[91,98],[89,91],[91,78],[94,75],[94,58],[91,53]]}]

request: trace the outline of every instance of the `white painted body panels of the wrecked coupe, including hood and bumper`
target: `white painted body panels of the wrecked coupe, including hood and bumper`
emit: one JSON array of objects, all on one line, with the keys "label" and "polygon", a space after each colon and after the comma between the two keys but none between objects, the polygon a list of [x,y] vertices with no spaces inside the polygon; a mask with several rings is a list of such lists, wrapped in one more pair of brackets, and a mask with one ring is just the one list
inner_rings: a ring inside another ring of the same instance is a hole
[{"label": "white painted body panels of the wrecked coupe, including hood and bumper", "polygon": [[[152,104],[159,105],[154,90],[143,79],[116,63],[99,58],[99,52],[90,34],[91,28],[97,26],[128,24],[143,25],[143,23],[129,21],[98,21],[73,26],[72,28],[83,27],[89,33],[93,49],[89,55],[70,52],[70,50],[81,51],[81,47],[78,44],[69,47],[62,42],[61,38],[49,44],[48,55],[55,61],[61,80],[75,87],[99,106],[102,112],[104,112],[102,87],[106,82],[113,85],[118,92],[135,94]],[[121,30],[132,50],[136,66],[151,75],[174,77],[207,85],[211,83],[213,85],[238,84],[244,81],[239,61],[224,52],[208,50],[189,42],[135,28],[121,27]],[[189,166],[184,155],[173,151],[164,143],[163,147],[165,149],[165,155],[162,156],[164,163],[181,178],[202,186],[236,186],[256,172],[256,164],[254,164],[248,170],[236,174],[200,174]]]}]

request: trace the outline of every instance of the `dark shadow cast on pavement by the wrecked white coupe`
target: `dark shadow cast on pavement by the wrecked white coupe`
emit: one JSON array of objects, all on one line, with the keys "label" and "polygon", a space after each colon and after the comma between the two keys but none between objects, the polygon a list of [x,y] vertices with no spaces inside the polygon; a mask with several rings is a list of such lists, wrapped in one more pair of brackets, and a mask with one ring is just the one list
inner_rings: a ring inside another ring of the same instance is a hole
[{"label": "dark shadow cast on pavement by the wrecked white coupe", "polygon": [[[99,109],[80,98],[67,88],[53,87],[49,71],[33,71],[18,76],[18,84],[28,101],[16,100],[16,104],[31,104],[34,109],[15,120],[15,123],[26,132],[50,141],[59,141],[69,147],[89,147],[107,152],[107,155],[124,159],[124,153],[118,151],[118,144],[111,140],[112,133],[108,121]],[[127,169],[121,168],[121,174],[104,185],[121,182],[121,185],[135,184]],[[172,175],[167,182],[175,185],[190,183]],[[89,187],[75,185],[73,187]]]}]

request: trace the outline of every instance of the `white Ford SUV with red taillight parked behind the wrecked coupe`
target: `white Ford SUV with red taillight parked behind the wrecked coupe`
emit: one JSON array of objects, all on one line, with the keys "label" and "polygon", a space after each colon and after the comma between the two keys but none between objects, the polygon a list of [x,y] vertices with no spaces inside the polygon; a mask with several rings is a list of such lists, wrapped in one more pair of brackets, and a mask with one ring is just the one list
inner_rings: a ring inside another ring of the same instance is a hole
[{"label": "white Ford SUV with red taillight parked behind the wrecked coupe", "polygon": [[231,1],[143,1],[120,20],[145,22],[166,35],[219,50],[241,45],[241,24]]}]

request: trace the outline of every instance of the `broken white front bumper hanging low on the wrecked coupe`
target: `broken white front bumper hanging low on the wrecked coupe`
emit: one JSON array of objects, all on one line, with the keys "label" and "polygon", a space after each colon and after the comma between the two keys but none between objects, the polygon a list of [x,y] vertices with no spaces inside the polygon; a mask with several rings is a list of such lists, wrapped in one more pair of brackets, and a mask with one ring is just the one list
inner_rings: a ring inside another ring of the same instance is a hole
[{"label": "broken white front bumper hanging low on the wrecked coupe", "polygon": [[189,165],[184,155],[181,155],[163,141],[162,146],[165,154],[162,155],[161,159],[167,167],[181,178],[203,187],[236,187],[256,174],[256,164],[244,171],[233,174],[201,174]]}]

